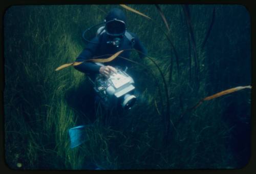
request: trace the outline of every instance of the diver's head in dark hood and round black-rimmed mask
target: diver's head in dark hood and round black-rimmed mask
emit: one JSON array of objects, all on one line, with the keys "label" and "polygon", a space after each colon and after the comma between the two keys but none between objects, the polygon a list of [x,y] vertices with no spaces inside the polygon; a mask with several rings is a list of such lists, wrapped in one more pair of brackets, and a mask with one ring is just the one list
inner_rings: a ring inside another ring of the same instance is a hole
[{"label": "diver's head in dark hood and round black-rimmed mask", "polygon": [[121,9],[113,8],[105,18],[106,34],[122,37],[126,31],[126,16]]}]

